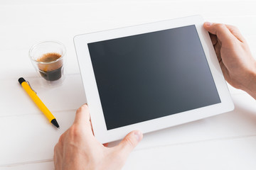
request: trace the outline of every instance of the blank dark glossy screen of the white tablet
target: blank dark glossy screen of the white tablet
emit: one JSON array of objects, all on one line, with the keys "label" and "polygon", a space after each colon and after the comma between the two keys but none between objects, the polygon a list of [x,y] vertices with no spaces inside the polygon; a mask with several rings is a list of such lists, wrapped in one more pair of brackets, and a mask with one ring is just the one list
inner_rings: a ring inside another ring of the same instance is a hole
[{"label": "blank dark glossy screen of the white tablet", "polygon": [[107,130],[220,103],[194,25],[88,47]]}]

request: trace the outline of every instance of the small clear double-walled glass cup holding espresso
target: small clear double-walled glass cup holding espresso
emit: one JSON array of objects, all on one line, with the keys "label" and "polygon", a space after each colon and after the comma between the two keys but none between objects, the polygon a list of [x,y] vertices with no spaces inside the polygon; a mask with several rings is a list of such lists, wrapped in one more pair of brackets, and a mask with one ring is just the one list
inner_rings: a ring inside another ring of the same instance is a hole
[{"label": "small clear double-walled glass cup holding espresso", "polygon": [[33,45],[29,57],[45,86],[59,86],[63,83],[65,46],[56,41],[44,41]]}]

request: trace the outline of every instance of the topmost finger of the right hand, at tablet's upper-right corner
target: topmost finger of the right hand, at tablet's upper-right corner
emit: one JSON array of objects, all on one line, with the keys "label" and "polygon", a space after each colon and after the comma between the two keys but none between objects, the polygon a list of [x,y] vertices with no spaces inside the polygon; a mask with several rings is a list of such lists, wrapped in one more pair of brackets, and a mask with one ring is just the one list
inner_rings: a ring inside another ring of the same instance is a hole
[{"label": "topmost finger of the right hand, at tablet's upper-right corner", "polygon": [[218,39],[224,44],[229,45],[235,40],[235,36],[230,32],[230,30],[222,23],[204,23],[204,28],[208,30],[209,33],[217,35]]}]

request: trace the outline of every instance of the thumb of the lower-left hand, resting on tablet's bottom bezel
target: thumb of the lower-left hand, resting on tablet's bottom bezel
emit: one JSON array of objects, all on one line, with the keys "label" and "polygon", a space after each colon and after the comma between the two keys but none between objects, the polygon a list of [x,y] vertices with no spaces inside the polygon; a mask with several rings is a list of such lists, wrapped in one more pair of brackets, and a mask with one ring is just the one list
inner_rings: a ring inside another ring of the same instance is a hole
[{"label": "thumb of the lower-left hand, resting on tablet's bottom bezel", "polygon": [[115,147],[117,149],[117,152],[119,152],[120,156],[126,159],[129,155],[129,153],[132,152],[134,147],[136,147],[139,142],[142,140],[142,132],[139,130],[134,130],[132,132],[129,132],[129,134],[124,137],[122,142]]}]

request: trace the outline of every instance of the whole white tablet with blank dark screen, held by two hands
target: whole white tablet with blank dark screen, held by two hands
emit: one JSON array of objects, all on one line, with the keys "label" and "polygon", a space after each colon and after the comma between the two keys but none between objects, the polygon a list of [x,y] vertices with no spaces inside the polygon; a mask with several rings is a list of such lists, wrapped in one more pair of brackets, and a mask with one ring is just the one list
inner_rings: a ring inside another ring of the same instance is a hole
[{"label": "whole white tablet with blank dark screen, held by two hands", "polygon": [[234,108],[201,16],[77,35],[74,42],[102,143]]}]

